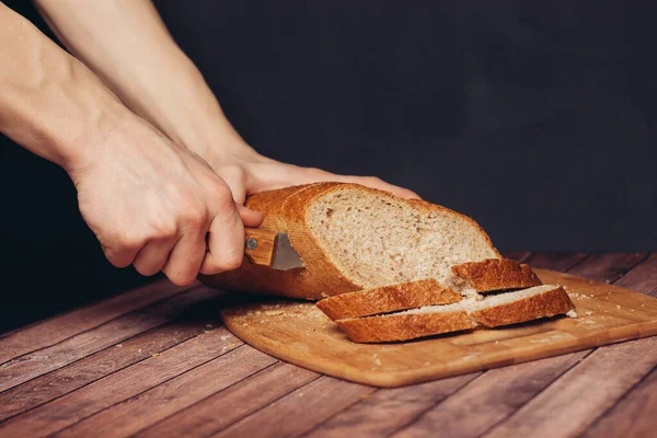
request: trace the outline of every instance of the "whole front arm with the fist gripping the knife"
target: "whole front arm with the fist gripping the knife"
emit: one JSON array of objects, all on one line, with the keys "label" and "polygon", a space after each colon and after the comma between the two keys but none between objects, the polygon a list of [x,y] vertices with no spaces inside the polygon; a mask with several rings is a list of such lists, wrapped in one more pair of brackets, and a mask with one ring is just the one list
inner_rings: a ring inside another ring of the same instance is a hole
[{"label": "whole front arm with the fist gripping the knife", "polygon": [[189,284],[241,264],[243,222],[256,227],[260,215],[1,2],[0,59],[0,131],[68,172],[114,265]]}]

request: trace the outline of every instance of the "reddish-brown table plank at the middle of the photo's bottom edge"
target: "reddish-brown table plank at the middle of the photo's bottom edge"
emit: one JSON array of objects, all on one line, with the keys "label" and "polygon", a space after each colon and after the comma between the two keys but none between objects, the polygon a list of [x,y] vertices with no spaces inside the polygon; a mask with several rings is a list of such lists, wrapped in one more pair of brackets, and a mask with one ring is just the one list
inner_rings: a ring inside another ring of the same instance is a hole
[{"label": "reddish-brown table plank at the middle of the photo's bottom edge", "polygon": [[481,372],[474,372],[413,387],[379,390],[316,425],[309,436],[387,437],[465,384],[476,382],[480,376]]}]

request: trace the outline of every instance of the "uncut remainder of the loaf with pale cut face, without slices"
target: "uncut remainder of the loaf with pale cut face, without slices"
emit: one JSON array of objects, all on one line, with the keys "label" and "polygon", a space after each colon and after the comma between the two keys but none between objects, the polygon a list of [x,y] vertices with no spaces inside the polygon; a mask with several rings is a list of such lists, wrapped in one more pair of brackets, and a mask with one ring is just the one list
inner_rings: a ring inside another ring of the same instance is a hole
[{"label": "uncut remainder of the loaf with pale cut face, without slices", "polygon": [[422,200],[357,184],[318,183],[250,196],[261,228],[288,234],[304,267],[275,270],[244,261],[200,279],[215,287],[322,299],[435,278],[450,286],[452,265],[500,258],[472,219]]}]

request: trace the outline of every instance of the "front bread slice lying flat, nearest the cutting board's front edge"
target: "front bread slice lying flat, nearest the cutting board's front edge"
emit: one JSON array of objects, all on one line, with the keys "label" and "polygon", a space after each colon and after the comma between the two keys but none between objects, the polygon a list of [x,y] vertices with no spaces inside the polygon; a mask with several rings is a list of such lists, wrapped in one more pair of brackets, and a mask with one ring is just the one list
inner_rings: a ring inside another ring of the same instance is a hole
[{"label": "front bread slice lying flat, nearest the cutting board's front edge", "polygon": [[380,316],[336,321],[354,342],[378,343],[474,328],[496,327],[567,313],[575,307],[561,286],[544,285],[463,300],[448,306],[430,306]]}]

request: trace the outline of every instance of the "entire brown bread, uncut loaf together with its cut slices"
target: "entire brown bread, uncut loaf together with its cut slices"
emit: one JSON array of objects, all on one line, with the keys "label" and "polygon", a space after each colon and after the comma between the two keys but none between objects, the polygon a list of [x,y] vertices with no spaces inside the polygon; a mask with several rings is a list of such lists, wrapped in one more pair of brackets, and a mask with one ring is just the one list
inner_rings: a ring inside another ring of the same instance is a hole
[{"label": "entire brown bread, uncut loaf together with its cut slices", "polygon": [[562,288],[540,286],[529,266],[503,260],[476,222],[435,204],[318,183],[250,196],[246,207],[263,214],[261,228],[287,233],[303,267],[275,270],[245,258],[239,269],[201,280],[325,298],[318,307],[356,342],[494,327],[573,309]]}]

